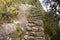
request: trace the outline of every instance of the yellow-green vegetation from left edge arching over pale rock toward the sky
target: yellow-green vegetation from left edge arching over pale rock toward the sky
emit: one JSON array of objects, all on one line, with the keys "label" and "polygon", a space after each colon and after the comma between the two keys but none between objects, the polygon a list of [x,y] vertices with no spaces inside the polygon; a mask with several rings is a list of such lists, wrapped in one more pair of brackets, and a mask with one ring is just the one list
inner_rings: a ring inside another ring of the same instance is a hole
[{"label": "yellow-green vegetation from left edge arching over pale rock toward the sky", "polygon": [[19,13],[19,9],[17,6],[19,6],[20,4],[27,4],[27,3],[36,6],[39,15],[42,14],[39,12],[41,11],[41,9],[40,9],[40,3],[37,0],[28,0],[28,1],[27,0],[0,0],[0,24],[13,23],[16,26],[19,34],[22,35],[22,30],[21,28],[19,28],[20,25],[14,23],[13,20],[14,18],[16,18],[17,14]]}]

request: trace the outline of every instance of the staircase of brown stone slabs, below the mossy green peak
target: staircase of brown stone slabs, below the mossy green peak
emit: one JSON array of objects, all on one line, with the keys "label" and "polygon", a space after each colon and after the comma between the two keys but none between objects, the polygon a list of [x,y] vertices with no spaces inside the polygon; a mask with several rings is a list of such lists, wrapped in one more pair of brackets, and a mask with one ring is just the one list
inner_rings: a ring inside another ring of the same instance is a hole
[{"label": "staircase of brown stone slabs, below the mossy green peak", "polygon": [[27,18],[26,33],[21,40],[44,40],[43,22],[40,17],[30,16]]}]

